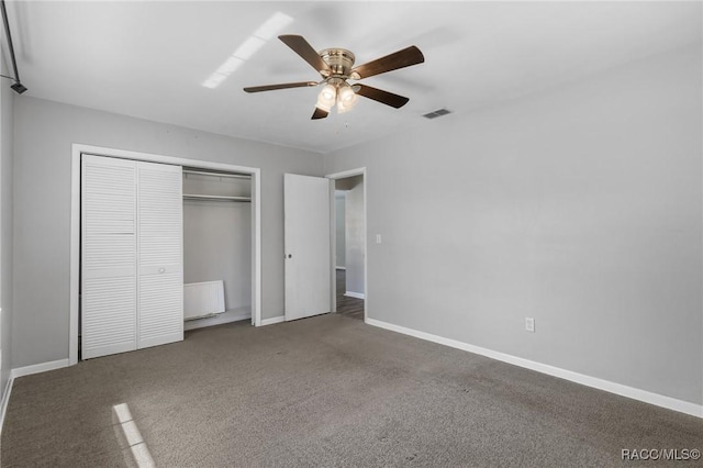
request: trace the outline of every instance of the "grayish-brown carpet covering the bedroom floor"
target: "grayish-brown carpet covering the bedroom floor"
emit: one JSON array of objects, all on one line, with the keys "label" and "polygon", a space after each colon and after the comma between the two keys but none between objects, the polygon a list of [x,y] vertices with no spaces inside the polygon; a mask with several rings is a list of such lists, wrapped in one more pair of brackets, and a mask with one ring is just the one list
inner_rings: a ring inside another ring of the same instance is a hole
[{"label": "grayish-brown carpet covering the bedroom floor", "polygon": [[2,467],[136,466],[119,403],[158,467],[651,467],[621,450],[703,448],[693,416],[322,315],[19,378]]}]

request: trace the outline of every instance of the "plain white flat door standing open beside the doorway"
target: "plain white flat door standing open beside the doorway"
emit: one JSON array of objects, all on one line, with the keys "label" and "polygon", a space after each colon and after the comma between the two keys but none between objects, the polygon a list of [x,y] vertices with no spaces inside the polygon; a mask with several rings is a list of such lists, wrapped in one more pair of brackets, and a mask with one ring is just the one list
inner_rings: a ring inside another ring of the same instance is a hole
[{"label": "plain white flat door standing open beside the doorway", "polygon": [[286,320],[330,312],[330,180],[286,174]]}]

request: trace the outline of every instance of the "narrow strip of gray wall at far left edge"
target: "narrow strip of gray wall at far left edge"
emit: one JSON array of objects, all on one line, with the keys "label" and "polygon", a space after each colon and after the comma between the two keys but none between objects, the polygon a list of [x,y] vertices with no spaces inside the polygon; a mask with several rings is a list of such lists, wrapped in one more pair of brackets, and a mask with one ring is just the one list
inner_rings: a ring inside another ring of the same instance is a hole
[{"label": "narrow strip of gray wall at far left edge", "polygon": [[[0,54],[2,55],[2,54]],[[2,55],[1,70],[8,75],[8,67]],[[22,98],[19,98],[22,99]],[[5,385],[12,369],[12,218],[13,218],[13,103],[14,91],[9,82],[0,86],[0,349],[2,361],[0,363],[0,395],[4,392]]]}]

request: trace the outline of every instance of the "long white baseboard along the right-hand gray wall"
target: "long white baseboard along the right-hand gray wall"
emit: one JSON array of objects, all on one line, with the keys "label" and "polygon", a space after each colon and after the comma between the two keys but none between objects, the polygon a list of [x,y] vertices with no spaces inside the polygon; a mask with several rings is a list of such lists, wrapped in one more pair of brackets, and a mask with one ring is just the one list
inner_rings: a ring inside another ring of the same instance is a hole
[{"label": "long white baseboard along the right-hand gray wall", "polygon": [[406,328],[404,326],[393,325],[391,323],[381,322],[375,319],[366,319],[366,323],[368,323],[369,325],[378,326],[380,328],[390,330],[391,332],[398,332],[404,335],[414,336],[416,338],[426,339],[428,342],[438,343],[440,345],[449,346],[465,352],[479,354],[481,356],[490,357],[491,359],[501,360],[514,366],[524,367],[526,369],[536,370],[538,372],[546,374],[553,377],[570,380],[572,382],[580,383],[587,387],[592,387],[599,390],[615,393],[621,397],[632,398],[633,400],[639,400],[645,403],[655,404],[668,410],[673,410],[703,419],[702,404],[695,404],[688,401],[678,400],[676,398],[666,397],[659,393],[652,393],[647,390],[624,386],[622,383],[611,382],[609,380],[599,379],[596,377],[585,376],[583,374],[573,372],[571,370],[561,369],[559,367],[536,363],[534,360],[524,359],[522,357],[512,356],[488,348],[482,348],[480,346],[469,345],[468,343],[458,342],[456,339],[445,338],[425,332],[419,332],[416,330]]}]

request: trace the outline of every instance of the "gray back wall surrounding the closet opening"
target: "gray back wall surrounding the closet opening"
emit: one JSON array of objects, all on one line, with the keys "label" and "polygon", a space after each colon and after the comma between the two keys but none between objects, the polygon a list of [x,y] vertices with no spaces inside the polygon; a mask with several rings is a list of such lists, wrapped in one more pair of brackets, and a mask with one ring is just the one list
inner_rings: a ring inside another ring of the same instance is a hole
[{"label": "gray back wall surrounding the closet opening", "polygon": [[261,168],[263,317],[283,313],[283,172],[322,176],[322,156],[23,97],[14,121],[12,365],[68,357],[71,144]]}]

